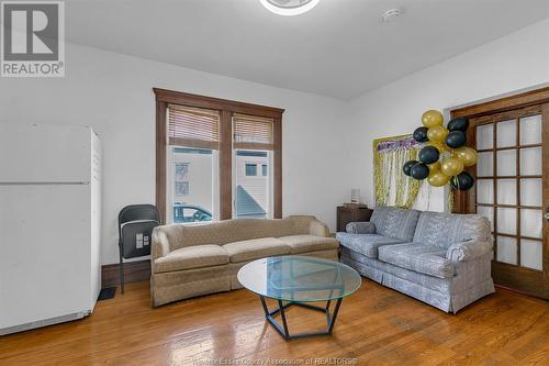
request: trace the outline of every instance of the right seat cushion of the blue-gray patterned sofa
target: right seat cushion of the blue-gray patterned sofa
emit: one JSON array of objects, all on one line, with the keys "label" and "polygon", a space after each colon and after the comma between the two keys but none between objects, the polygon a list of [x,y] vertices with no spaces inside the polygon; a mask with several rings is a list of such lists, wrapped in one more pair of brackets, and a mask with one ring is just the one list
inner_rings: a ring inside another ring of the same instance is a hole
[{"label": "right seat cushion of the blue-gray patterned sofa", "polygon": [[451,278],[453,265],[446,258],[446,249],[436,246],[405,243],[381,246],[379,259],[392,265],[438,278]]}]

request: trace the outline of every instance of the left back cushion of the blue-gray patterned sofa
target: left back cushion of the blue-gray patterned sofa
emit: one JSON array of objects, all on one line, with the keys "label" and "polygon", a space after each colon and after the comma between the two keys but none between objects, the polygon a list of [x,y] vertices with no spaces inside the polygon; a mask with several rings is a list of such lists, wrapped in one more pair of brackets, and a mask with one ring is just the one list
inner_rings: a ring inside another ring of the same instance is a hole
[{"label": "left back cushion of the blue-gray patterned sofa", "polygon": [[394,207],[380,207],[373,210],[371,222],[376,225],[376,234],[412,242],[419,211]]}]

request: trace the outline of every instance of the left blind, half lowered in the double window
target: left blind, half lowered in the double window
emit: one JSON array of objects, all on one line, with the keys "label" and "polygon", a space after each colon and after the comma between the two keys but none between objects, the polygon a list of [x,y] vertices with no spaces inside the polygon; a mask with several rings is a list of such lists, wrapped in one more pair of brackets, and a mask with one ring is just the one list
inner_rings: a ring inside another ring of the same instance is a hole
[{"label": "left blind, half lowered in the double window", "polygon": [[220,112],[169,104],[168,143],[186,147],[219,149]]}]

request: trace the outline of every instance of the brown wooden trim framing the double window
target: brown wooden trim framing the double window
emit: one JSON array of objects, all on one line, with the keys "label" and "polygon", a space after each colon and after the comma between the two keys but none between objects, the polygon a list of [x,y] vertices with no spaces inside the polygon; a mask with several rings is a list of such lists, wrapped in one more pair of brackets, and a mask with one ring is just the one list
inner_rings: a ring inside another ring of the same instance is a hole
[{"label": "brown wooden trim framing the double window", "polygon": [[156,97],[156,206],[166,223],[166,110],[169,103],[220,111],[220,219],[233,215],[233,125],[234,113],[273,119],[273,218],[282,218],[282,113],[283,109],[226,99],[153,88]]}]

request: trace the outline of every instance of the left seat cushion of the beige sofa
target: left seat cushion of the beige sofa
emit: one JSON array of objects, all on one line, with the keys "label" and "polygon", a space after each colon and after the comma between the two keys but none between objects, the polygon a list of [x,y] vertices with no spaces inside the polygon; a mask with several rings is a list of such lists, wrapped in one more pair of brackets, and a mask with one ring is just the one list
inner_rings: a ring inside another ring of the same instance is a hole
[{"label": "left seat cushion of the beige sofa", "polygon": [[228,263],[228,254],[219,245],[187,246],[155,260],[155,273],[219,266]]}]

